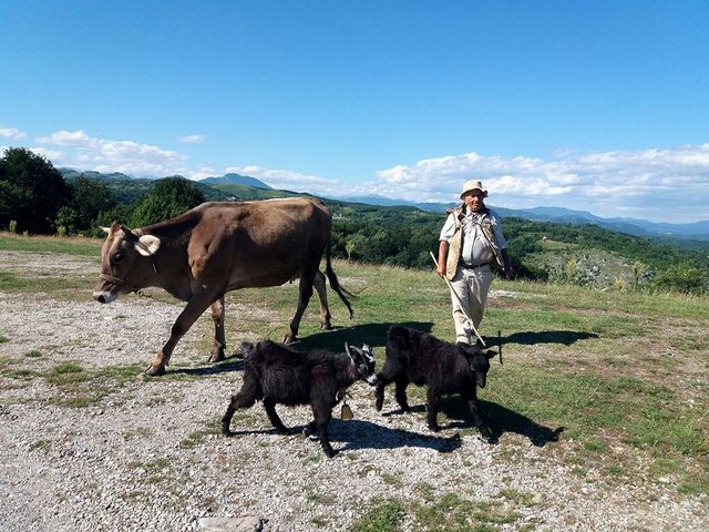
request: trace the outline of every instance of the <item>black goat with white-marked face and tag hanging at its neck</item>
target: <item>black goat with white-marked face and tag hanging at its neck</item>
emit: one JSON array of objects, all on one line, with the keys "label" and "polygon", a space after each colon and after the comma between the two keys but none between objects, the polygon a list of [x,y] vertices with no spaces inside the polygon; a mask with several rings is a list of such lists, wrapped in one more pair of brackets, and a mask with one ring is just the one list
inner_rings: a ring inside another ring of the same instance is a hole
[{"label": "black goat with white-marked face and tag hanging at its neck", "polygon": [[257,400],[271,424],[281,433],[290,433],[276,413],[276,405],[310,405],[314,420],[305,429],[307,436],[317,433],[322,450],[328,457],[335,451],[328,441],[328,423],[332,407],[345,389],[362,379],[376,385],[374,356],[369,346],[361,349],[345,344],[346,352],[315,349],[309,352],[292,351],[270,340],[259,341],[246,348],[244,383],[236,396],[232,396],[226,413],[222,418],[222,433],[232,436],[229,426],[236,409],[249,408]]}]

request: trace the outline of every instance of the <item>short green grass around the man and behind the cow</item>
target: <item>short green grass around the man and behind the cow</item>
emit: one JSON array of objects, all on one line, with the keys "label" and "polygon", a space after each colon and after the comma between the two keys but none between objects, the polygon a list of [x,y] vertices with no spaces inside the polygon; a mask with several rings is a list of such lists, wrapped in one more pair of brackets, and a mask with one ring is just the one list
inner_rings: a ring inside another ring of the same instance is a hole
[{"label": "short green grass around the man and behind the cow", "polygon": [[[94,257],[96,272],[100,247],[99,241],[0,234],[0,252]],[[0,263],[0,291],[37,290],[37,283],[4,269]],[[311,301],[301,324],[300,346],[340,350],[345,341],[368,342],[380,366],[387,329],[393,324],[453,339],[450,296],[432,270],[347,262],[337,262],[335,270],[341,284],[356,294],[351,300],[354,319],[349,320],[342,303],[329,291],[336,329],[320,331],[317,305]],[[90,289],[94,277],[83,288]],[[88,279],[88,274],[58,273],[43,278],[41,289],[68,297],[66,288]],[[709,494],[708,298],[502,279],[493,283],[493,290],[481,334],[491,344],[502,345],[504,364],[495,362],[490,385],[480,395],[493,432],[524,433],[548,443],[549,452],[563,454],[562,460],[573,464],[576,474],[588,477],[594,471],[609,485],[638,480],[671,482],[680,494]],[[230,348],[235,338],[246,334],[280,340],[296,291],[292,284],[227,295],[227,303],[265,308],[271,316],[227,316]],[[175,303],[157,290],[153,297]],[[3,335],[11,331],[0,329],[0,342]],[[209,347],[207,339],[204,351]],[[4,375],[11,370],[0,364]],[[121,379],[137,371],[133,368]],[[80,371],[55,368],[48,382],[62,386],[75,374]],[[165,377],[171,378],[184,377]],[[422,390],[414,387],[410,395],[423,401]],[[455,398],[443,407],[443,416],[459,415]],[[557,446],[557,441],[566,444]],[[513,456],[511,449],[510,459]],[[448,508],[455,503],[448,502]],[[394,502],[384,501],[362,518],[358,530],[386,530],[376,528],[377,520],[386,522],[398,511]],[[369,526],[368,519],[374,524]]]}]

